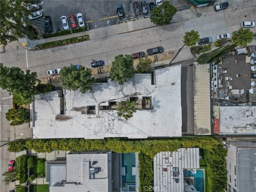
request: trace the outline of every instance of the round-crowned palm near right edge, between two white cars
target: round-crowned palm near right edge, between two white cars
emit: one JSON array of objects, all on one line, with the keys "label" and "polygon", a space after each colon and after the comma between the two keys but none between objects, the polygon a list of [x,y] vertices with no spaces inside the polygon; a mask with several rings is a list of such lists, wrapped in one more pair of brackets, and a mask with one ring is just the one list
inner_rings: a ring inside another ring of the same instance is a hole
[{"label": "round-crowned palm near right edge, between two white cars", "polygon": [[232,41],[236,46],[245,47],[247,43],[252,42],[253,33],[252,31],[247,28],[243,29],[240,28],[238,31],[234,31],[232,36]]}]

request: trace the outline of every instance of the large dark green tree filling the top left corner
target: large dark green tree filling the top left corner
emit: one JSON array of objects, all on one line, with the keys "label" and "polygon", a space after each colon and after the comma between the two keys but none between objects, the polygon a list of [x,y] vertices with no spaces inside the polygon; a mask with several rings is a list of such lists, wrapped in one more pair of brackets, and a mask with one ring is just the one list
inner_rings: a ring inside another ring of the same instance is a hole
[{"label": "large dark green tree filling the top left corner", "polygon": [[0,42],[6,45],[7,42],[17,41],[24,37],[28,30],[27,10],[29,1],[21,0],[1,0],[0,6]]}]

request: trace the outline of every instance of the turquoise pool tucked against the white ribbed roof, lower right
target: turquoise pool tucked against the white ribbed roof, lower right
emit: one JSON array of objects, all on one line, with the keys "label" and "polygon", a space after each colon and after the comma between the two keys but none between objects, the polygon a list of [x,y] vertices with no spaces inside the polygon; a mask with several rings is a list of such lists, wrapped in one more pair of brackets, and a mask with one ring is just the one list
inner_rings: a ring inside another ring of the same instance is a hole
[{"label": "turquoise pool tucked against the white ribbed roof, lower right", "polygon": [[184,170],[184,177],[194,177],[194,187],[197,191],[204,192],[204,170],[197,169],[196,173]]}]

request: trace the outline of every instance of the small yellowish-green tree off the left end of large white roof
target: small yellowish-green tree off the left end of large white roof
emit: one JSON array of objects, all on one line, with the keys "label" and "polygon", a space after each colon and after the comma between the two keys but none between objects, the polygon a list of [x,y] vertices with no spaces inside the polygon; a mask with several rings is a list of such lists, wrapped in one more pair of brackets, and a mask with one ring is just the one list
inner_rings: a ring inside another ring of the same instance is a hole
[{"label": "small yellowish-green tree off the left end of large white roof", "polygon": [[12,126],[21,125],[30,121],[29,110],[23,107],[19,107],[18,109],[8,109],[5,117],[11,122],[10,125]]}]

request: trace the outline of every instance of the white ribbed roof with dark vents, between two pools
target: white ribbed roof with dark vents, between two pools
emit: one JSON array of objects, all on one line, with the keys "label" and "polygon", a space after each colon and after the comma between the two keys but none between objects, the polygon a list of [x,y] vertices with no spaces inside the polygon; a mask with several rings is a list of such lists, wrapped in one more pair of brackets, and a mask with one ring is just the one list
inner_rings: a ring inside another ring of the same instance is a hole
[{"label": "white ribbed roof with dark vents, between two pools", "polygon": [[[199,148],[180,148],[173,152],[157,153],[154,157],[155,191],[185,191],[184,169],[199,169]],[[175,182],[175,179],[178,179],[178,182]]]}]

